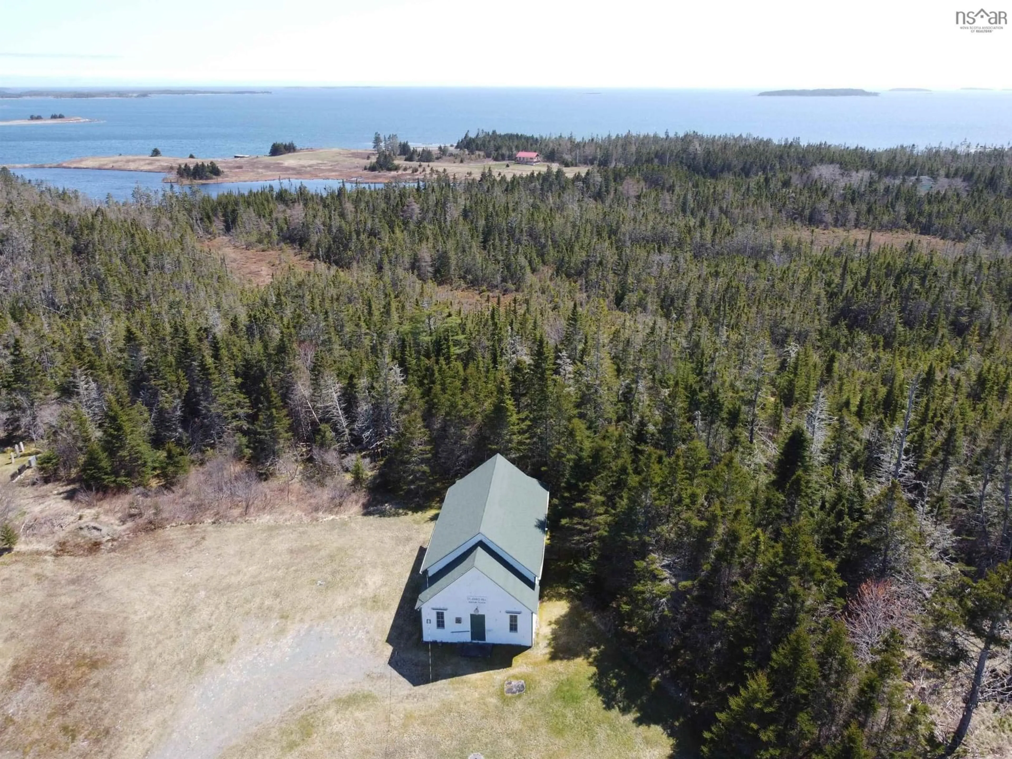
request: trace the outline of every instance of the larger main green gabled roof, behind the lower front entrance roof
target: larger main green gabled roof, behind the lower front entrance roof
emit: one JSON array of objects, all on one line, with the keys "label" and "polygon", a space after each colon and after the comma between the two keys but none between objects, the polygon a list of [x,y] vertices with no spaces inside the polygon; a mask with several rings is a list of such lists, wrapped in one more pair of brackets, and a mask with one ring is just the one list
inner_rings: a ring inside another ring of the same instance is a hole
[{"label": "larger main green gabled roof, behind the lower front entrance roof", "polygon": [[496,453],[446,491],[422,572],[483,534],[536,577],[547,511],[549,491]]}]

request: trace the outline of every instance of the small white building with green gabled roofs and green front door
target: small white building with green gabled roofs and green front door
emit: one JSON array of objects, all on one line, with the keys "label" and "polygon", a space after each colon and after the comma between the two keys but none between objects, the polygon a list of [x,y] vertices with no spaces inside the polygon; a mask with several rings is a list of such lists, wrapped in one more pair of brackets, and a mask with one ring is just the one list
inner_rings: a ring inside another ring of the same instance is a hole
[{"label": "small white building with green gabled roofs and green front door", "polygon": [[531,646],[549,491],[498,453],[457,480],[422,562],[422,640]]}]

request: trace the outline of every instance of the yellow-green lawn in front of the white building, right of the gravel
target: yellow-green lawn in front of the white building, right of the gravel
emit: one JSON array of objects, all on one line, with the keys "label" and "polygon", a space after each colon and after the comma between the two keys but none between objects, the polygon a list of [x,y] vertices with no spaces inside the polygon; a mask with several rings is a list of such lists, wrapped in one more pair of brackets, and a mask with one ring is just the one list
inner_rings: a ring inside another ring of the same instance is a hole
[{"label": "yellow-green lawn in front of the white building, right of the gravel", "polygon": [[[418,645],[427,656],[427,647]],[[674,704],[607,650],[578,606],[541,604],[534,648],[460,659],[433,647],[434,682],[394,674],[367,689],[307,703],[226,752],[246,757],[667,757],[660,727]],[[470,670],[470,671],[469,671]],[[441,679],[440,679],[441,678]],[[508,696],[507,679],[526,692]]]}]

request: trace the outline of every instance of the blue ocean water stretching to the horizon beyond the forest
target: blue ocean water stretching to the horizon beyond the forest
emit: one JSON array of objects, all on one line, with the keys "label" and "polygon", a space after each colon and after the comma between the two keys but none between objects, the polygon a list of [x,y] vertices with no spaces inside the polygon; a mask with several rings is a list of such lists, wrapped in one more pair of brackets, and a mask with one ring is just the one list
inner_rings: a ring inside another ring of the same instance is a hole
[{"label": "blue ocean water stretching to the horizon beyond the forest", "polygon": [[[300,147],[364,148],[375,132],[438,145],[479,129],[577,137],[699,132],[868,148],[1012,144],[1009,91],[757,97],[755,90],[337,87],[274,88],[259,95],[0,99],[0,120],[54,110],[96,120],[0,126],[0,165],[144,155],[152,148],[219,158],[264,154],[272,142],[289,140]],[[132,176],[88,179],[76,170],[58,181],[101,196],[103,189],[121,196],[139,182],[148,186],[133,172],[115,173]]]}]

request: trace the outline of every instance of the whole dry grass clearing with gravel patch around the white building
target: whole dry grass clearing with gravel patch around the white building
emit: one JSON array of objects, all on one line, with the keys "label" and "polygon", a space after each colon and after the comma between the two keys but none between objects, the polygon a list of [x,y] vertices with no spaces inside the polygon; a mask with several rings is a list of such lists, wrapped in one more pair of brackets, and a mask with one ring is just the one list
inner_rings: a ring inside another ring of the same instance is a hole
[{"label": "whole dry grass clearing with gravel patch around the white building", "polygon": [[[537,644],[418,642],[430,514],[157,529],[0,558],[0,757],[663,757],[663,694],[577,605]],[[506,679],[527,692],[506,696]]]}]

